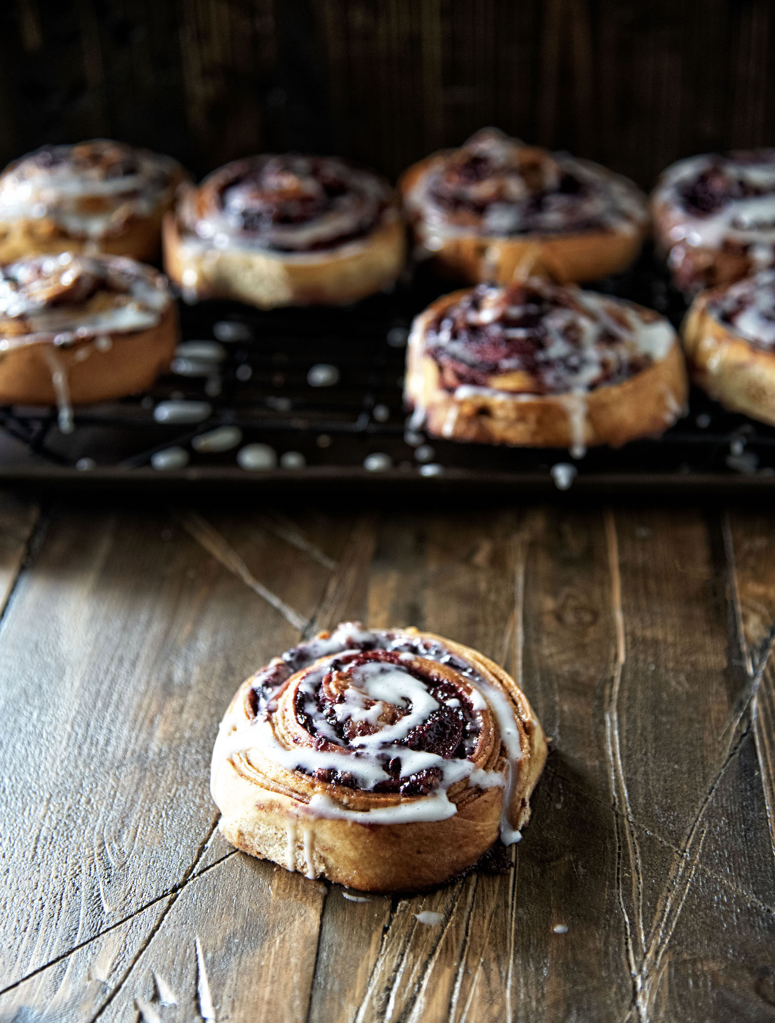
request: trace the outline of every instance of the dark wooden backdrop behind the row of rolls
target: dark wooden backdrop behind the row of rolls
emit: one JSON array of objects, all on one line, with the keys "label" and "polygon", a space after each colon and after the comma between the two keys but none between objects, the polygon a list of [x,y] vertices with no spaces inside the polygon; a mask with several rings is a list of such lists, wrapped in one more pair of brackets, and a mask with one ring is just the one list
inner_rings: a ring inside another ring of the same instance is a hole
[{"label": "dark wooden backdrop behind the row of rolls", "polygon": [[202,174],[260,150],[390,177],[495,124],[649,186],[775,143],[770,0],[2,0],[0,159],[108,136]]}]

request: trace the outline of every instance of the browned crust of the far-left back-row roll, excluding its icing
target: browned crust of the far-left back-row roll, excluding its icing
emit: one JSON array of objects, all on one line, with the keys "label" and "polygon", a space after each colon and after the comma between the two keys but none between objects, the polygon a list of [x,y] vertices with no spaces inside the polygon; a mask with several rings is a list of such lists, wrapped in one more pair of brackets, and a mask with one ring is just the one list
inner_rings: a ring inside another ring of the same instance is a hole
[{"label": "browned crust of the far-left back-row roll, excluding its icing", "polygon": [[[9,216],[0,204],[0,263],[12,263],[29,256],[48,253],[97,252],[115,256],[129,256],[140,262],[155,260],[162,248],[162,222],[168,210],[175,205],[179,185],[187,180],[183,168],[169,157],[155,157],[145,150],[136,150],[118,142],[95,140],[78,146],[54,147],[75,153],[76,160],[89,160],[97,171],[110,173],[110,168],[121,160],[138,157],[149,166],[157,161],[158,173],[165,174],[165,184],[154,188],[156,201],[147,206],[135,202],[134,196],[126,203],[110,194],[85,193],[79,202],[83,216],[99,217],[112,214],[104,232],[90,235],[73,225],[62,222],[55,204],[42,216],[19,213]],[[41,152],[44,150],[41,150]],[[45,150],[47,151],[47,150]],[[40,152],[31,153],[10,164],[0,175],[0,194],[10,179],[24,172],[25,166],[39,159]],[[101,165],[101,166],[100,166]],[[164,170],[162,170],[162,168]],[[45,185],[45,182],[41,183]],[[55,191],[53,186],[51,191]]]}]

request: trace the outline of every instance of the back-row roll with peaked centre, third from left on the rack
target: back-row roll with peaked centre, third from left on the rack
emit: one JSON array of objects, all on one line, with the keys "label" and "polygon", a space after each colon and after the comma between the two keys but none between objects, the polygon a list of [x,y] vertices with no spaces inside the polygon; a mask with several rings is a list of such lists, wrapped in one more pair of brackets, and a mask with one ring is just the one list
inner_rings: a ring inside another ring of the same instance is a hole
[{"label": "back-row roll with peaked centre, third from left on the rack", "polygon": [[505,283],[536,251],[534,272],[594,280],[632,263],[648,225],[627,178],[494,128],[410,167],[400,188],[418,257],[468,283]]}]

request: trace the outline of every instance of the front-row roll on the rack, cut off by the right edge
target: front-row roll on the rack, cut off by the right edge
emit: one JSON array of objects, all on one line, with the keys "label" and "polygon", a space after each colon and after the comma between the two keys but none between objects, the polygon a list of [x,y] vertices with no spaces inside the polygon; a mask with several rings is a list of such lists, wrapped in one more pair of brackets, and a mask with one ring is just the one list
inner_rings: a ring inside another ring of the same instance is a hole
[{"label": "front-row roll on the rack, cut off by the right edge", "polygon": [[689,372],[703,391],[775,426],[775,269],[698,295],[682,333]]}]

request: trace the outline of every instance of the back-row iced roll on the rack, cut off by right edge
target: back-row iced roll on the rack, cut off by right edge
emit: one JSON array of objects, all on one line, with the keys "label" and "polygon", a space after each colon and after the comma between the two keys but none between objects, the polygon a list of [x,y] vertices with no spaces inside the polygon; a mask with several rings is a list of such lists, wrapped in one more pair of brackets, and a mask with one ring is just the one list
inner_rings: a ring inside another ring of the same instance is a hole
[{"label": "back-row iced roll on the rack, cut off by right edge", "polygon": [[682,291],[775,265],[775,149],[680,160],[651,202],[656,241]]}]

